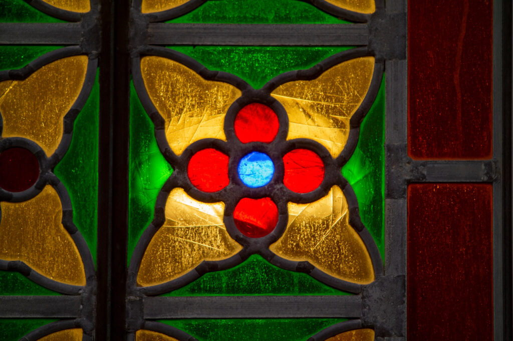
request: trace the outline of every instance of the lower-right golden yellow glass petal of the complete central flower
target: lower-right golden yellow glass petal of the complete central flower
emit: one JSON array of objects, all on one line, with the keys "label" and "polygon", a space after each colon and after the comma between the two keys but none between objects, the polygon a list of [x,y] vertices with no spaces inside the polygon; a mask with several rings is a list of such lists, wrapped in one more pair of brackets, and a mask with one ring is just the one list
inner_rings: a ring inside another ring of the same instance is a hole
[{"label": "lower-right golden yellow glass petal of the complete central flower", "polygon": [[288,203],[283,236],[269,248],[282,258],[308,261],[338,279],[367,284],[374,280],[370,255],[349,225],[349,209],[339,186],[309,204]]}]

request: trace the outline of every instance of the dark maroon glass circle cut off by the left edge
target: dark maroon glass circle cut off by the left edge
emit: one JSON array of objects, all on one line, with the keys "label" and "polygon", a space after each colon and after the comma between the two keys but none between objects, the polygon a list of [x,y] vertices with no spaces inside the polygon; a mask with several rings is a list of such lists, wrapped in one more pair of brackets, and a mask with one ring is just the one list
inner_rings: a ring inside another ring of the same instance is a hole
[{"label": "dark maroon glass circle cut off by the left edge", "polygon": [[0,187],[21,192],[32,187],[39,177],[39,162],[25,148],[9,148],[0,153]]}]

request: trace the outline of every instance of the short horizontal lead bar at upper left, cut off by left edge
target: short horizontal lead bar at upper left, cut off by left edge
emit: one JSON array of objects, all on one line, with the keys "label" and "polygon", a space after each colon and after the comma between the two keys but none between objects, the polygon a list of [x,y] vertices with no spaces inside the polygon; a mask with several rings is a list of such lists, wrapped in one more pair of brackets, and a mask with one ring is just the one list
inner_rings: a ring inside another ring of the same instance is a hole
[{"label": "short horizontal lead bar at upper left, cut off by left edge", "polygon": [[77,45],[82,27],[76,23],[1,23],[0,44]]}]

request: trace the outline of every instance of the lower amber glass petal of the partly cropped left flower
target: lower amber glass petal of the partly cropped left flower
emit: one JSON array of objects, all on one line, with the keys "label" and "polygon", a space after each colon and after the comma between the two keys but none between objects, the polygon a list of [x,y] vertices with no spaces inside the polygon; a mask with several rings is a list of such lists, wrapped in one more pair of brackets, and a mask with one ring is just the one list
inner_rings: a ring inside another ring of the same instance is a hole
[{"label": "lower amber glass petal of the partly cropped left flower", "polygon": [[82,258],[61,223],[61,200],[52,186],[30,200],[0,206],[0,259],[23,261],[57,282],[86,284]]}]

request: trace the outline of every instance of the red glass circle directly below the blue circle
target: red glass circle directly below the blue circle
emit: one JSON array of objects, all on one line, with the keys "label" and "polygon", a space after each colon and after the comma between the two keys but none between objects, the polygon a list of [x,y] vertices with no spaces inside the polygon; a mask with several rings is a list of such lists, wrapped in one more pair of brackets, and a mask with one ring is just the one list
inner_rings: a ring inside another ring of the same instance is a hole
[{"label": "red glass circle directly below the blue circle", "polygon": [[261,238],[267,236],[276,227],[278,207],[271,198],[244,198],[235,206],[233,220],[244,236]]}]

